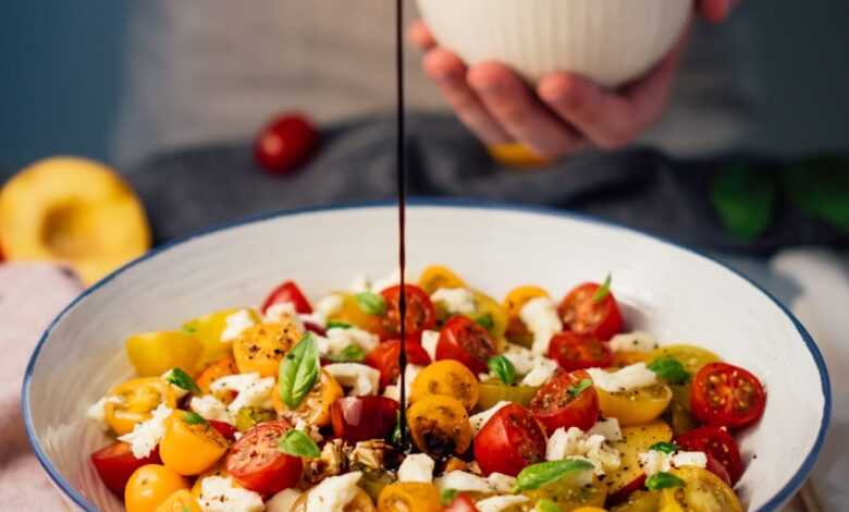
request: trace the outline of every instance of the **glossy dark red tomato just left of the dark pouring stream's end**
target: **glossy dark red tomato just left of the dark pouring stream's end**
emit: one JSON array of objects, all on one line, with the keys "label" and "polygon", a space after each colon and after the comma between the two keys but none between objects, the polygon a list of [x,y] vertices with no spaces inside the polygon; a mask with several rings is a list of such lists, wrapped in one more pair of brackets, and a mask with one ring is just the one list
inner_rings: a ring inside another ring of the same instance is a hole
[{"label": "glossy dark red tomato just left of the dark pouring stream's end", "polygon": [[398,419],[398,402],[386,397],[345,397],[330,406],[333,434],[346,441],[382,439]]}]

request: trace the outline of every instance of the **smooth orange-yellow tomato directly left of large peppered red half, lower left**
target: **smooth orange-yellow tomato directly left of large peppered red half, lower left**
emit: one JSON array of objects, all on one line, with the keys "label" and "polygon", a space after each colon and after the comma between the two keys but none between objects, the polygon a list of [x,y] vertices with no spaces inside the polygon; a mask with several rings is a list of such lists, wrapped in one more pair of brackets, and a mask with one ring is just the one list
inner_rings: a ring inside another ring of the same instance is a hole
[{"label": "smooth orange-yellow tomato directly left of large peppered red half, lower left", "polygon": [[165,422],[159,443],[162,463],[181,475],[199,475],[227,451],[227,441],[195,413],[177,411]]}]

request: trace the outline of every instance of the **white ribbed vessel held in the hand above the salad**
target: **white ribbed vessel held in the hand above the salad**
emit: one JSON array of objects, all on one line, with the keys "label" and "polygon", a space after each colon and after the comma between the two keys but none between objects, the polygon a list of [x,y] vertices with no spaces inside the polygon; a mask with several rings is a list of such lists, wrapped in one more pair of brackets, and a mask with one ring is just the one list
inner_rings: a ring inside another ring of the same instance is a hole
[{"label": "white ribbed vessel held in the hand above the salad", "polygon": [[616,87],[672,48],[692,0],[418,0],[440,45],[476,64],[496,60],[536,83],[570,71]]}]

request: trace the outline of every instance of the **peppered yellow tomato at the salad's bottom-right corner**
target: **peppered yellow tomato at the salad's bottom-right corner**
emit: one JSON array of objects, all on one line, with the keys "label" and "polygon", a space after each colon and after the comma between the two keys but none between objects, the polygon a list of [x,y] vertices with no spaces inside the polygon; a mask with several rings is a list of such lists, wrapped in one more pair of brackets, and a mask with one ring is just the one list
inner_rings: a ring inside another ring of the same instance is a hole
[{"label": "peppered yellow tomato at the salad's bottom-right corner", "polygon": [[670,473],[684,486],[661,491],[661,512],[742,512],[734,490],[707,470],[684,466]]}]

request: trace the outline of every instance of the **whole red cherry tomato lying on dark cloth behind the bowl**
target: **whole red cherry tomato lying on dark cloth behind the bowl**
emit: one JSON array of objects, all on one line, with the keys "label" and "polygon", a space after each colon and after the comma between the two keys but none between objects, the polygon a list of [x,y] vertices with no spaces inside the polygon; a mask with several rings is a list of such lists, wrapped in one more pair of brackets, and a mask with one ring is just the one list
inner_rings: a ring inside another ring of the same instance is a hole
[{"label": "whole red cherry tomato lying on dark cloth behind the bowl", "polygon": [[318,144],[318,132],[303,114],[276,118],[257,137],[254,157],[270,174],[285,174],[304,163]]}]

